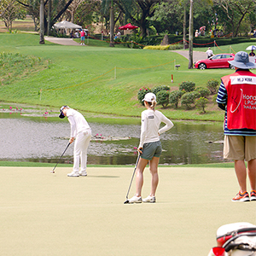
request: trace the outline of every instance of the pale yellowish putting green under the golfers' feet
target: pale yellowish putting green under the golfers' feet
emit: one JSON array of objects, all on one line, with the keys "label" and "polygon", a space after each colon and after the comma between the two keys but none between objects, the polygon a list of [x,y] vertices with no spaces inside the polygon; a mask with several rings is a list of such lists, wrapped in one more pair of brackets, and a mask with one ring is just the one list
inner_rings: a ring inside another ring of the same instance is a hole
[{"label": "pale yellowish putting green under the golfers' feet", "polygon": [[[134,205],[124,204],[132,166],[51,170],[0,167],[1,255],[206,256],[219,226],[256,224],[256,202],[230,201],[231,168],[160,167],[157,202]],[[144,197],[149,189],[147,168]]]}]

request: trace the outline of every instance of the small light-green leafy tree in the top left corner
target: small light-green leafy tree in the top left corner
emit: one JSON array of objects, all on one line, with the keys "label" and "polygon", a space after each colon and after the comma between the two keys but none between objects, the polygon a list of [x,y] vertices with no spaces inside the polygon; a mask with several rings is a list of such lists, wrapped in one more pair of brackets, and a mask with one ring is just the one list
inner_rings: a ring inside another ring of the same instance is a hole
[{"label": "small light-green leafy tree in the top left corner", "polygon": [[12,30],[14,20],[26,18],[26,12],[20,9],[20,5],[15,1],[1,0],[0,10],[0,19],[3,20],[8,31]]}]

